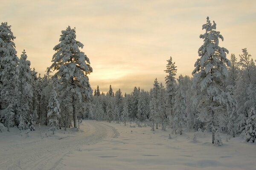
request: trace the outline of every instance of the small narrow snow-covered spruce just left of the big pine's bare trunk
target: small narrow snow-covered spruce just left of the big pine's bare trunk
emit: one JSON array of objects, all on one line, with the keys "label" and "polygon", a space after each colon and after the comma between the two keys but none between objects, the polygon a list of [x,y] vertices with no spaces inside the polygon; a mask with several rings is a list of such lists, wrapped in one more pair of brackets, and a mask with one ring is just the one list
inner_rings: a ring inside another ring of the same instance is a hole
[{"label": "small narrow snow-covered spruce just left of the big pine's bare trunk", "polygon": [[52,94],[49,99],[47,117],[49,119],[49,130],[54,134],[54,131],[59,127],[58,119],[60,118],[60,104],[57,100],[57,93],[54,89],[52,90]]}]

